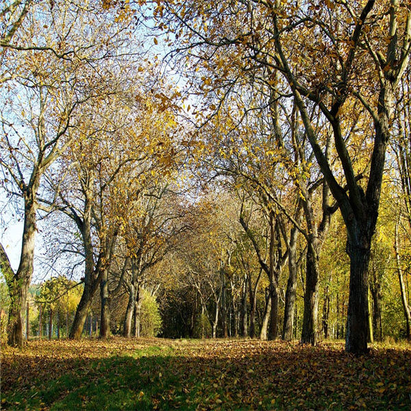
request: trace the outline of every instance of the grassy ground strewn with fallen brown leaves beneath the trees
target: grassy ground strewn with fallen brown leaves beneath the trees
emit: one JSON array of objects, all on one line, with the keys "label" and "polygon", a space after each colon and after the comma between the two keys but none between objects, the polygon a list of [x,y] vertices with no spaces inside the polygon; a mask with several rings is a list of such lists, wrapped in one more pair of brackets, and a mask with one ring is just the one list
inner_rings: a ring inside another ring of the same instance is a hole
[{"label": "grassy ground strewn with fallen brown leaves beneath the trees", "polygon": [[410,410],[411,346],[32,340],[2,349],[1,409]]}]

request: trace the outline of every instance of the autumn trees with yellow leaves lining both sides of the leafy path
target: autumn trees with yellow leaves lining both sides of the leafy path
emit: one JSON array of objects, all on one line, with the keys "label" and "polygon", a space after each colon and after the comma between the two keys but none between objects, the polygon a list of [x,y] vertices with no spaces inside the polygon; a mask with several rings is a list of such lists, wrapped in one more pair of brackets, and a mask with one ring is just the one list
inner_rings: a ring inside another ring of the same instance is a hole
[{"label": "autumn trees with yellow leaves lining both sides of the leafy path", "polygon": [[26,0],[1,19],[2,188],[24,214],[16,271],[0,247],[10,344],[38,224],[51,269],[82,271],[71,338],[98,290],[100,336],[118,296],[130,336],[145,289],[164,334],[290,340],[301,319],[316,345],[334,310],[363,353],[393,272],[411,338],[409,6]]}]

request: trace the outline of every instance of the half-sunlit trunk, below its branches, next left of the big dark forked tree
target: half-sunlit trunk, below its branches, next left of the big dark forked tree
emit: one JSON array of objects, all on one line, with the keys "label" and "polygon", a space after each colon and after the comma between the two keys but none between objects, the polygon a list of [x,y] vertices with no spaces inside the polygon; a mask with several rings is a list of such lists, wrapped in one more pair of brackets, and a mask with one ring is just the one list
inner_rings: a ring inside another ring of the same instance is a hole
[{"label": "half-sunlit trunk, below its branches, next left of the big dark forked tree", "polygon": [[306,292],[304,293],[302,344],[318,342],[319,265],[314,245],[308,245],[306,258]]}]

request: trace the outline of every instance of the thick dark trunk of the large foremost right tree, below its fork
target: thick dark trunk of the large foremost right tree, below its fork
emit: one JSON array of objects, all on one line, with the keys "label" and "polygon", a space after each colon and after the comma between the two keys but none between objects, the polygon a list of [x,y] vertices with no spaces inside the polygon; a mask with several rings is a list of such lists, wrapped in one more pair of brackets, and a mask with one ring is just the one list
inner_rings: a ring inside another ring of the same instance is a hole
[{"label": "thick dark trunk of the large foremost right tree, below its fork", "polygon": [[368,351],[368,266],[369,247],[349,246],[350,279],[345,349],[350,353]]}]

